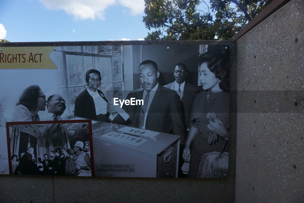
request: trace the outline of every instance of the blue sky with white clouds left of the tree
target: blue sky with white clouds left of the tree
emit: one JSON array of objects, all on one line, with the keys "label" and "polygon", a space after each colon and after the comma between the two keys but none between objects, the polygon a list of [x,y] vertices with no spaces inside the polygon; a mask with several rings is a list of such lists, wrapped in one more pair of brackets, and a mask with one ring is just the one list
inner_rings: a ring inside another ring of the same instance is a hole
[{"label": "blue sky with white clouds left of the tree", "polygon": [[144,0],[3,0],[0,38],[11,42],[143,39],[153,31],[142,22],[143,8]]}]

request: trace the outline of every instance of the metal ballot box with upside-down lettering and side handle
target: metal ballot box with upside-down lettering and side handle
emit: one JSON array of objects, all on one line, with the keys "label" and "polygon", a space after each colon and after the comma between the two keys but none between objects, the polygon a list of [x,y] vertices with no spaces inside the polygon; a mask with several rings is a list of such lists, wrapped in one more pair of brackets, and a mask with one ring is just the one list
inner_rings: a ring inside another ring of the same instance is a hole
[{"label": "metal ballot box with upside-down lettering and side handle", "polygon": [[93,128],[92,136],[95,176],[178,176],[178,135],[112,124]]}]

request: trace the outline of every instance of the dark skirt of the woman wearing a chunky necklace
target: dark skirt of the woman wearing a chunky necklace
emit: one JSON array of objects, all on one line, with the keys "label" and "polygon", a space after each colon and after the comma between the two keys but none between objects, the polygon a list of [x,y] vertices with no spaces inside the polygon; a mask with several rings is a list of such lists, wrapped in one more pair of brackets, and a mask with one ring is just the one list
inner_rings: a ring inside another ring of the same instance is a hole
[{"label": "dark skirt of the woman wearing a chunky necklace", "polygon": [[190,157],[190,166],[188,178],[197,178],[199,173],[199,164],[202,159],[202,155],[212,152],[212,151],[221,151],[225,140],[218,136],[218,142],[215,144],[209,144],[208,139],[202,138],[197,135],[194,138],[192,148],[191,148],[191,157]]}]

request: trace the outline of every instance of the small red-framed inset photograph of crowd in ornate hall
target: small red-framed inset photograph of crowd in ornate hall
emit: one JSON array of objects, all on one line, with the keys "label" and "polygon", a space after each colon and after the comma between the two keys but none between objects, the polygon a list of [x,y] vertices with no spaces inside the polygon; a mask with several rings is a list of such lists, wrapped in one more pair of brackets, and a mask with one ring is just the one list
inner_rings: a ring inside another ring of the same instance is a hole
[{"label": "small red-framed inset photograph of crowd in ornate hall", "polygon": [[90,123],[7,123],[10,174],[92,176]]}]

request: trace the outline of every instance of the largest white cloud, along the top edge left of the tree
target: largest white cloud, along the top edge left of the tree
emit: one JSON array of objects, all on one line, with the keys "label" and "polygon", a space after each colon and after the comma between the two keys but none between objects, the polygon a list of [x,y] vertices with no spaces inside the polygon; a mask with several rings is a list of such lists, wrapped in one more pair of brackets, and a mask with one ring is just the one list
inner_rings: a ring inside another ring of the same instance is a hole
[{"label": "largest white cloud, along the top edge left of the tree", "polygon": [[131,9],[131,15],[143,13],[143,0],[39,0],[47,9],[64,10],[75,19],[105,19],[105,10],[120,4]]}]

